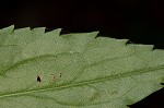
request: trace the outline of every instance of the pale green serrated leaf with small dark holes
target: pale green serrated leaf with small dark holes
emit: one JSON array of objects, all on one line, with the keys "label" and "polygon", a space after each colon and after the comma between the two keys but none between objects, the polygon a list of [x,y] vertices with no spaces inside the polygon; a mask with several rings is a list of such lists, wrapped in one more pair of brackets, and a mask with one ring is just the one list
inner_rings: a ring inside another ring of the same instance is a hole
[{"label": "pale green serrated leaf with small dark holes", "polygon": [[127,108],[163,87],[164,50],[44,29],[0,31],[1,108]]}]

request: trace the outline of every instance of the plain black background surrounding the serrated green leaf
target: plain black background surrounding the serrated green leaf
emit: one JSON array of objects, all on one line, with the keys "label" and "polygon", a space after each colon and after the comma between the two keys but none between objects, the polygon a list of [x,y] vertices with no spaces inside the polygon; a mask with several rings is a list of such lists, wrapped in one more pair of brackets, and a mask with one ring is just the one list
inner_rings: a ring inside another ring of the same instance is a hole
[{"label": "plain black background surrounding the serrated green leaf", "polygon": [[[62,33],[99,31],[101,36],[128,38],[164,49],[164,3],[160,0],[1,0],[0,28],[62,28]],[[131,108],[164,108],[161,89]],[[161,107],[160,107],[161,105]],[[162,107],[163,106],[163,107]]]}]

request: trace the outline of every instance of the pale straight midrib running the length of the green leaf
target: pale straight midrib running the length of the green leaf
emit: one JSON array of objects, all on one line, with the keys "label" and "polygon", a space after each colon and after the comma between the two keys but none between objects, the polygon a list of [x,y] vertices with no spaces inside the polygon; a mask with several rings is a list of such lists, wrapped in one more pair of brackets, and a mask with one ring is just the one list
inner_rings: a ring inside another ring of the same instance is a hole
[{"label": "pale straight midrib running the length of the green leaf", "polygon": [[148,73],[148,72],[163,70],[163,69],[164,69],[164,65],[162,64],[160,67],[150,68],[147,70],[140,69],[140,70],[136,70],[132,72],[116,74],[113,76],[99,77],[99,79],[95,79],[95,80],[87,80],[87,81],[83,81],[83,82],[75,82],[72,84],[67,84],[67,85],[61,85],[61,86],[56,86],[56,87],[47,87],[47,88],[39,88],[39,89],[31,89],[31,91],[24,91],[24,92],[3,94],[3,95],[0,95],[0,98],[12,97],[12,96],[17,96],[17,95],[21,96],[21,95],[25,95],[25,94],[30,94],[30,93],[35,93],[35,92],[45,92],[45,91],[51,91],[51,89],[65,89],[65,88],[69,88],[69,87],[75,87],[75,86],[82,86],[82,85],[98,83],[98,82],[112,81],[112,80],[116,80],[119,77],[126,77],[126,76],[130,76],[130,75],[137,75],[137,74],[141,74],[141,73]]}]

